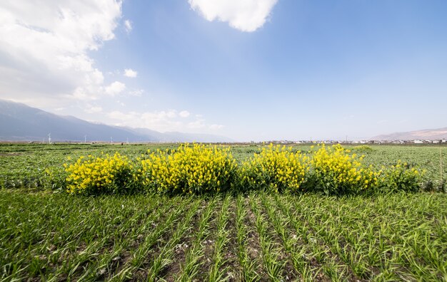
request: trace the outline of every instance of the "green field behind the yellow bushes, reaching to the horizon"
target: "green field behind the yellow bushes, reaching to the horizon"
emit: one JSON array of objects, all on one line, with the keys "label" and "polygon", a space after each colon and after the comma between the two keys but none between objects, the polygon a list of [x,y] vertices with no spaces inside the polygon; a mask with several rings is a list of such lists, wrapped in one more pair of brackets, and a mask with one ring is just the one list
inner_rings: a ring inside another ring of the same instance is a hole
[{"label": "green field behind the yellow bushes, reaching to the horizon", "polygon": [[[265,145],[266,147],[267,145]],[[46,168],[61,168],[67,157],[76,160],[81,155],[100,155],[101,152],[119,152],[131,160],[145,154],[147,150],[174,149],[177,144],[162,145],[84,145],[84,144],[2,144],[0,143],[0,187],[41,187],[44,183]],[[259,152],[261,145],[233,145],[233,157],[241,163]],[[311,145],[293,145],[293,150],[308,152]],[[447,175],[446,146],[401,146],[401,145],[368,145],[344,146],[358,155],[365,155],[363,162],[380,168],[382,165],[396,164],[398,160],[417,165],[426,170],[426,180],[436,186],[441,179],[440,160],[443,163],[443,178]],[[356,149],[359,148],[359,149]],[[441,150],[441,155],[440,155]],[[441,159],[442,157],[442,159]]]}]

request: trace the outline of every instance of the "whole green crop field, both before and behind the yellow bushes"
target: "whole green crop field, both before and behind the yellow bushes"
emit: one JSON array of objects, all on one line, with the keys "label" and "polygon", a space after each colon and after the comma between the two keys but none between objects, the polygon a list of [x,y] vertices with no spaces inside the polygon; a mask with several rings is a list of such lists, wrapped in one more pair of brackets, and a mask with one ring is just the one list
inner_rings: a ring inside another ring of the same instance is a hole
[{"label": "whole green crop field, both before and behind the yellow bushes", "polygon": [[[66,157],[156,147],[0,145],[0,281],[447,281],[440,192],[82,197],[45,187],[45,169]],[[440,147],[361,151],[368,164],[402,160],[440,181]],[[241,162],[258,147],[232,152]]]}]

